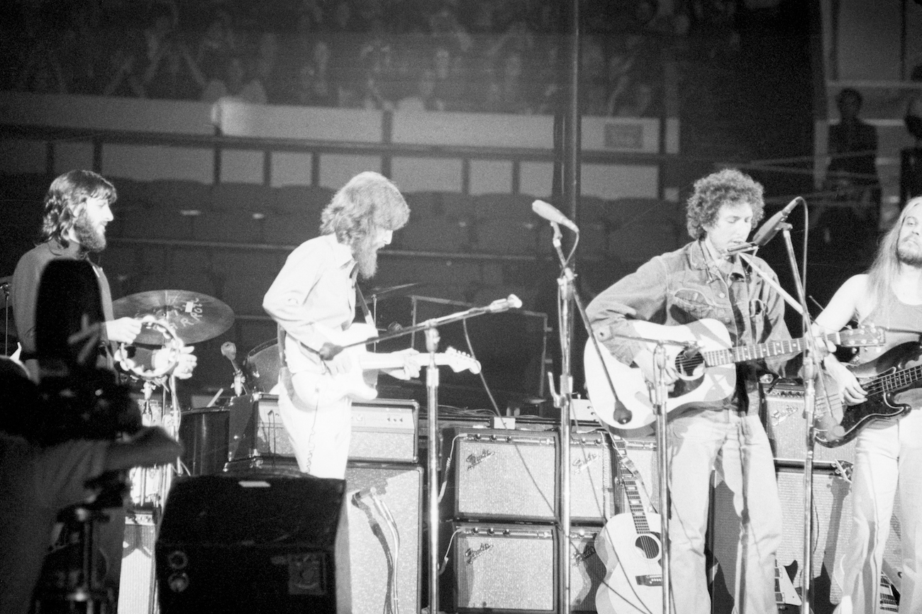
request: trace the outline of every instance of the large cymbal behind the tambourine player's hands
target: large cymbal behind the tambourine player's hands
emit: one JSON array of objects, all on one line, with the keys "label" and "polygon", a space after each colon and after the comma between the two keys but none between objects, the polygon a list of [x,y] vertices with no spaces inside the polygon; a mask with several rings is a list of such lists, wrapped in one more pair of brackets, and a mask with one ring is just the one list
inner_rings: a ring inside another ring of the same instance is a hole
[{"label": "large cymbal behind the tambourine player's hands", "polygon": [[[165,320],[183,343],[197,343],[218,337],[233,324],[233,311],[218,299],[189,290],[149,290],[112,302],[116,318],[142,318],[152,315]],[[162,345],[157,330],[144,328],[135,343]]]}]

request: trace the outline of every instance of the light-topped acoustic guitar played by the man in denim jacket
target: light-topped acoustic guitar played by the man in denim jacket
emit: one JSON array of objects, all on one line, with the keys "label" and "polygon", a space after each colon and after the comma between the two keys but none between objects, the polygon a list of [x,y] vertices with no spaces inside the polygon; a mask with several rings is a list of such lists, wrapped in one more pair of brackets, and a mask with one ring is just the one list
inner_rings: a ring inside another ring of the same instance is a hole
[{"label": "light-topped acoustic guitar played by the man in denim jacket", "polygon": [[[684,348],[665,346],[666,360],[679,372],[679,380],[667,399],[667,413],[680,411],[695,403],[721,401],[730,396],[736,389],[737,362],[798,354],[807,347],[806,340],[799,338],[734,348],[730,345],[727,327],[712,319],[673,326],[644,320],[633,320],[631,324],[639,337],[686,344]],[[860,326],[820,338],[837,346],[854,348],[883,345],[884,337],[880,328]],[[602,350],[602,360],[599,360],[595,345],[589,339],[583,352],[585,384],[598,419],[616,430],[633,430],[652,424],[656,415],[643,372],[639,367],[616,360],[601,344],[599,349]],[[615,396],[609,388],[606,368],[615,387]],[[615,410],[619,408],[630,410],[631,417],[627,422],[615,419]]]}]

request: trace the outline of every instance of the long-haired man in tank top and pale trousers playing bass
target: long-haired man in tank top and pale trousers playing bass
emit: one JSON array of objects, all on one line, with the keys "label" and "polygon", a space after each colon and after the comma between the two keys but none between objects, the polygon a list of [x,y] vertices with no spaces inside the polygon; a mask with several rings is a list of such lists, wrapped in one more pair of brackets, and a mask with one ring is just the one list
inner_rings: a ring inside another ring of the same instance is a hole
[{"label": "long-haired man in tank top and pale trousers playing bass", "polygon": [[[922,330],[922,197],[906,203],[887,232],[867,274],[845,281],[829,306],[816,318],[821,330],[839,329],[853,318],[887,331],[882,348],[863,348],[850,370],[833,354],[823,360],[825,371],[838,384],[846,406],[881,403],[882,384],[865,388],[855,372],[863,365],[886,372],[919,362]],[[863,371],[868,371],[864,369]],[[864,378],[862,378],[864,379]],[[892,404],[922,407],[918,377],[904,378]],[[867,388],[867,389],[866,389]],[[818,387],[817,395],[821,394]],[[846,410],[848,407],[846,407]],[[903,542],[901,612],[922,611],[922,414],[909,410],[892,418],[872,419],[857,433],[852,473],[852,533],[845,549],[840,585],[845,593],[841,614],[871,614],[879,603],[884,545],[890,531],[894,498],[900,500]]]}]

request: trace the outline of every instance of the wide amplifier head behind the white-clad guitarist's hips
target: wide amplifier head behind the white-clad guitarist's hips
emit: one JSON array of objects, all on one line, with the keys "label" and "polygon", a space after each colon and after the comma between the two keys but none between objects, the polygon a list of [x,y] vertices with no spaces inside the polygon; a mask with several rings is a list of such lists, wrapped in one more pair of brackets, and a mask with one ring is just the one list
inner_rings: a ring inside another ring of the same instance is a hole
[{"label": "wide amplifier head behind the white-clad guitarist's hips", "polygon": [[[294,455],[278,414],[278,396],[238,396],[231,399],[229,408],[231,461],[253,455]],[[412,400],[354,402],[349,460],[415,463],[419,456],[419,413],[420,405]]]}]

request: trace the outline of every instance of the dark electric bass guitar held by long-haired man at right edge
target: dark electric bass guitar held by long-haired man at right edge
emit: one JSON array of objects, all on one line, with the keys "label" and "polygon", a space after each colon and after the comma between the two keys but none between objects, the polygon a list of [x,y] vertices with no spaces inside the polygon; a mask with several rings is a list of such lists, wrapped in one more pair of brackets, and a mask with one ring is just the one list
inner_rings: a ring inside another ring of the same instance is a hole
[{"label": "dark electric bass guitar held by long-haired man at right edge", "polygon": [[[888,349],[874,360],[846,365],[868,393],[868,400],[853,406],[845,406],[838,384],[823,372],[822,381],[816,387],[817,419],[829,415],[841,416],[841,419],[831,429],[818,428],[816,441],[826,447],[836,447],[855,439],[861,427],[873,419],[895,418],[907,413],[912,407],[897,403],[893,396],[922,386],[922,365],[906,366],[919,360],[922,360],[922,343],[908,341]],[[823,391],[826,394],[822,394]]]}]

